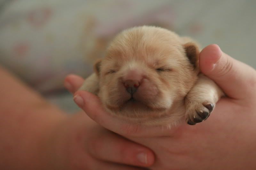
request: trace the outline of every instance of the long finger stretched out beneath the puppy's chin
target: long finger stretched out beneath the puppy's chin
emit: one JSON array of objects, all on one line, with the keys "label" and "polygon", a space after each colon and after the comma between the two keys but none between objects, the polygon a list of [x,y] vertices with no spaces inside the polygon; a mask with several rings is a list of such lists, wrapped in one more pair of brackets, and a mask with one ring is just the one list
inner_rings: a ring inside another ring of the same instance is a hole
[{"label": "long finger stretched out beneath the puppy's chin", "polygon": [[164,130],[163,126],[148,128],[145,125],[132,124],[131,122],[121,119],[115,115],[110,115],[102,108],[99,98],[90,92],[76,92],[74,101],[92,120],[125,137],[156,137],[172,135],[178,128],[172,127],[171,129],[168,129],[166,127],[166,130]]}]

